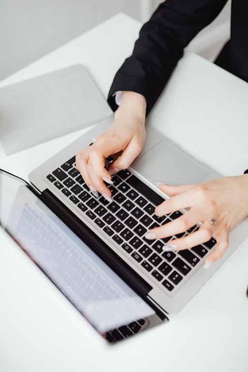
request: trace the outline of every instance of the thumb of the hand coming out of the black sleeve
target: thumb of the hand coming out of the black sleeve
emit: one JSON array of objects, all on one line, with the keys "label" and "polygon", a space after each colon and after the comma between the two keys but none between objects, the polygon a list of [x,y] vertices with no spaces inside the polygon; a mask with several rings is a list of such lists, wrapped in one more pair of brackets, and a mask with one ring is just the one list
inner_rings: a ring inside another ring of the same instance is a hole
[{"label": "thumb of the hand coming out of the black sleeve", "polygon": [[134,139],[131,140],[124,149],[122,155],[111,164],[110,169],[117,168],[122,170],[128,168],[134,159],[140,154],[141,150],[142,145]]}]

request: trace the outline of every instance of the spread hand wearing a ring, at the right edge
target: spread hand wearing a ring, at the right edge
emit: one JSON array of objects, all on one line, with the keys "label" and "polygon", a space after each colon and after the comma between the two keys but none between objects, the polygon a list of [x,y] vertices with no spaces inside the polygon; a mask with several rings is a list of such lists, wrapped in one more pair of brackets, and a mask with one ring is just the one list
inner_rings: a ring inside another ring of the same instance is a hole
[{"label": "spread hand wearing a ring, at the right edge", "polygon": [[[149,231],[148,238],[165,238],[186,232],[199,221],[202,226],[195,233],[174,239],[164,250],[192,248],[211,239],[215,233],[217,244],[205,261],[210,267],[223,255],[229,245],[229,232],[248,215],[248,175],[223,177],[197,185],[168,186],[159,184],[165,194],[172,196],[155,208],[157,216],[168,215],[178,209],[190,210],[159,228]],[[210,223],[211,219],[214,223]]]}]

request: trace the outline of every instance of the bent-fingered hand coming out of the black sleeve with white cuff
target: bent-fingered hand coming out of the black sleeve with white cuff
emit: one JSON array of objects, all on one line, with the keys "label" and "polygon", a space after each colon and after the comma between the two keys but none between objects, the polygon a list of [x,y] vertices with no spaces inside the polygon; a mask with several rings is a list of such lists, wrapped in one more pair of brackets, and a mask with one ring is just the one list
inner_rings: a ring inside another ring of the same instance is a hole
[{"label": "bent-fingered hand coming out of the black sleeve with white cuff", "polygon": [[[77,169],[94,194],[99,191],[106,199],[110,198],[111,191],[104,181],[111,184],[111,174],[129,167],[140,154],[145,140],[145,111],[146,100],[141,94],[124,92],[114,123],[92,146],[76,155]],[[122,155],[111,164],[108,172],[104,168],[105,159],[121,150]]]}]

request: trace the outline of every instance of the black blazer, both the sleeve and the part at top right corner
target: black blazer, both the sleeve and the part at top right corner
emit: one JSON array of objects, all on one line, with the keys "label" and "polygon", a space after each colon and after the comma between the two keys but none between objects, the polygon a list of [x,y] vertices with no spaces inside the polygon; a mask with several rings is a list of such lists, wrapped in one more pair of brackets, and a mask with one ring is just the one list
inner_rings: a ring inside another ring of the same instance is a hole
[{"label": "black blazer, both the sleeve and the part at top right corner", "polygon": [[[166,0],[140,30],[133,54],[113,80],[108,102],[115,111],[113,93],[137,92],[146,98],[147,114],[171,76],[184,48],[220,13],[227,0]],[[248,81],[248,0],[232,1],[231,39],[215,62]]]}]

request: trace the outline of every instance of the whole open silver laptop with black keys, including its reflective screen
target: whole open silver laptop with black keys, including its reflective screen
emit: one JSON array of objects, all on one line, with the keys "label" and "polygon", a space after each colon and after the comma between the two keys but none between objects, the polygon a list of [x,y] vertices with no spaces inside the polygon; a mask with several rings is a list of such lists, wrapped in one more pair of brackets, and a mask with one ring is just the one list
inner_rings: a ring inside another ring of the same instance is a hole
[{"label": "whole open silver laptop with black keys, including its reflective screen", "polygon": [[[215,247],[214,236],[178,252],[163,252],[162,246],[184,234],[155,241],[144,238],[149,229],[186,213],[155,215],[155,206],[169,198],[156,181],[191,184],[220,176],[151,126],[146,127],[140,155],[128,169],[112,176],[113,185],[108,186],[113,202],[101,195],[96,198],[76,169],[75,155],[105,132],[113,118],[95,125],[32,171],[31,185],[1,172],[7,185],[4,195],[14,203],[8,202],[8,212],[0,217],[6,231],[111,344],[168,321],[248,235],[245,219],[230,233],[224,256],[208,270],[203,264]],[[115,156],[106,159],[107,169]],[[4,200],[5,196],[2,205]]]}]

